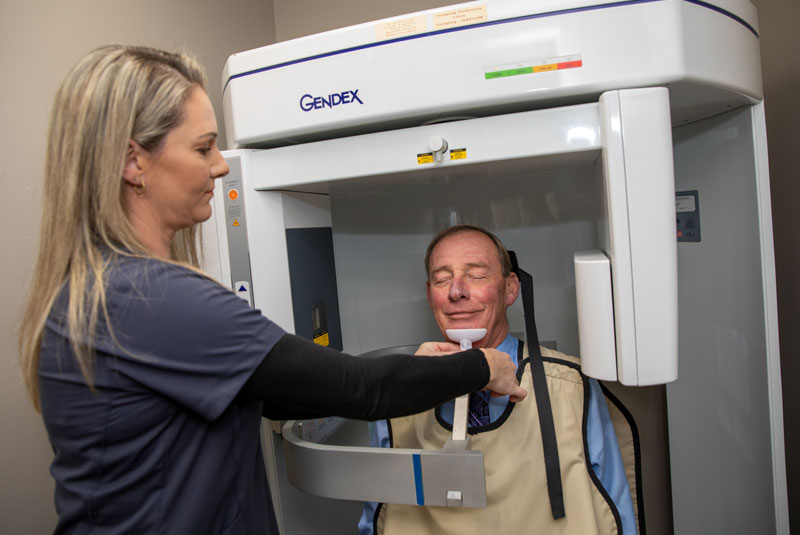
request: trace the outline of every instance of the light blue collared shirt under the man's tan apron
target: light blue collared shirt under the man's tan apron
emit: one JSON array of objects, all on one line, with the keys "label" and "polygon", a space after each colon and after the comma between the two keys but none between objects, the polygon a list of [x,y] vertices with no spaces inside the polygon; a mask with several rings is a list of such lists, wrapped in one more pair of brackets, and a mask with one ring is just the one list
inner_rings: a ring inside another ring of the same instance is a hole
[{"label": "light blue collared shirt under the man's tan apron", "polygon": [[[518,340],[510,334],[497,346],[499,351],[508,353],[515,366],[517,362]],[[601,400],[603,401],[601,403]],[[619,511],[622,521],[622,533],[625,535],[636,533],[636,516],[633,512],[628,478],[625,475],[625,465],[619,451],[617,434],[605,404],[605,396],[600,389],[600,384],[595,379],[589,379],[589,410],[586,421],[586,442],[589,445],[589,460],[592,463],[603,488],[606,489]],[[489,398],[489,419],[494,422],[503,414],[508,406],[508,396]],[[441,410],[442,419],[453,423],[453,409],[455,400],[444,403]],[[373,447],[388,448],[389,428],[386,420],[370,423],[370,442]],[[364,502],[364,512],[358,521],[359,535],[373,535],[372,525],[375,516],[375,502]]]}]

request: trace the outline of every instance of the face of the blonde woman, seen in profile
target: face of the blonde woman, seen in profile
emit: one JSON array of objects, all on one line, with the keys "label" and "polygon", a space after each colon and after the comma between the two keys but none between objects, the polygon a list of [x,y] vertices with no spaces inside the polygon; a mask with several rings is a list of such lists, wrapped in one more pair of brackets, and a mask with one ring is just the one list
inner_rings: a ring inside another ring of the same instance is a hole
[{"label": "face of the blonde woman, seen in profile", "polygon": [[148,212],[171,233],[211,217],[214,179],[228,174],[217,148],[217,120],[205,91],[196,88],[183,109],[182,122],[160,149],[141,160]]}]

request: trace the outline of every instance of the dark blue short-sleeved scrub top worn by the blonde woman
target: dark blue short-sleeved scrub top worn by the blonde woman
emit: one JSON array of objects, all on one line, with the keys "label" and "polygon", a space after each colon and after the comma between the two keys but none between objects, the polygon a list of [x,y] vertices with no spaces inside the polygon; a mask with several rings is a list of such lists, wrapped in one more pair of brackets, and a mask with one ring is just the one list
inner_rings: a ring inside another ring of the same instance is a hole
[{"label": "dark blue short-sleeved scrub top worn by the blonde woman", "polygon": [[[95,392],[47,321],[42,416],[55,452],[56,533],[277,533],[261,403],[239,391],[284,331],[189,269],[123,258],[107,273]],[[119,344],[117,343],[119,342]]]}]

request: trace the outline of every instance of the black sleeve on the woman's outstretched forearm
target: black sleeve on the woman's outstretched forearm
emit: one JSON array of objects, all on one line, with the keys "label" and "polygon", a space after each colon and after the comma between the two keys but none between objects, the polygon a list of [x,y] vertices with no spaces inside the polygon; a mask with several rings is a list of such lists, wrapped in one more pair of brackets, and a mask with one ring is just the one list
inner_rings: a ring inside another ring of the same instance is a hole
[{"label": "black sleeve on the woman's outstretched forearm", "polygon": [[478,349],[444,357],[354,357],[287,334],[242,388],[273,420],[394,418],[428,410],[489,382]]}]

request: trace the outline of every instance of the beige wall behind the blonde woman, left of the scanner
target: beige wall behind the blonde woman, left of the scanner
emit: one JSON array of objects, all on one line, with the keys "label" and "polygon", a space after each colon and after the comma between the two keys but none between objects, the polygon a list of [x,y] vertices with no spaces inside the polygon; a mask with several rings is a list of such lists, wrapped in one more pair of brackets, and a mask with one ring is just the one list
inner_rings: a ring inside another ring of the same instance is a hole
[{"label": "beige wall behind the blonde woman, left of the scanner", "polygon": [[102,44],[186,48],[208,71],[222,127],[226,58],[274,41],[271,0],[0,0],[0,533],[47,533],[56,519],[52,452],[21,386],[14,330],[39,239],[45,131],[57,85]]}]

